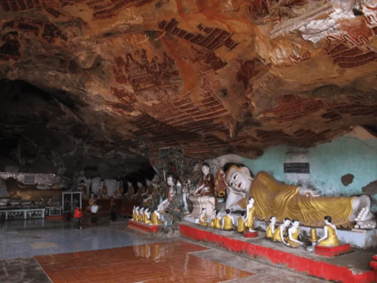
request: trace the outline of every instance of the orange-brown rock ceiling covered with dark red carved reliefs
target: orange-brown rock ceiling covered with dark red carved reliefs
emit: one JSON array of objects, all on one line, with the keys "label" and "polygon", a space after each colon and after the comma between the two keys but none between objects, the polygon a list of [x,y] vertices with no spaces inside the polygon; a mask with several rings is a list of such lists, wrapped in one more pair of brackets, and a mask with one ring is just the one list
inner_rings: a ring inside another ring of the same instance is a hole
[{"label": "orange-brown rock ceiling covered with dark red carved reliefs", "polygon": [[376,124],[376,0],[0,1],[0,77],[117,147],[254,158]]}]

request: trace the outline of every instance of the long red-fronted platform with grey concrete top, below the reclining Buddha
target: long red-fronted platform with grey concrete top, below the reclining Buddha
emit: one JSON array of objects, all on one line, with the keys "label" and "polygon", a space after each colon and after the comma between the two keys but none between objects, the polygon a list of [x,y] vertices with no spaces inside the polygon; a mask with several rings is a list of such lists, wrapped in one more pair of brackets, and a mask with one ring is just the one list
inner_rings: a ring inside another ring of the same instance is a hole
[{"label": "long red-fronted platform with grey concrete top, below the reclining Buddha", "polygon": [[351,254],[326,257],[309,253],[303,248],[293,249],[265,239],[259,232],[257,238],[244,238],[237,232],[206,228],[182,222],[182,236],[196,241],[212,243],[229,251],[243,253],[269,263],[321,279],[343,283],[377,282],[377,272],[371,270],[370,261],[376,250],[355,250]]}]

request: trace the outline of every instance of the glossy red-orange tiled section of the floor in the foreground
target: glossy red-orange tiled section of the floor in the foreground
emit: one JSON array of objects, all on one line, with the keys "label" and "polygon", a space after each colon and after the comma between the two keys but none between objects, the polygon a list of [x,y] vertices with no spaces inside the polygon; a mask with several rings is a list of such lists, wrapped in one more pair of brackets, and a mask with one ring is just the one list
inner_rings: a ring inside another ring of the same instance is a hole
[{"label": "glossy red-orange tiled section of the floor in the foreground", "polygon": [[205,250],[178,240],[35,259],[54,283],[217,283],[253,275],[190,254]]}]

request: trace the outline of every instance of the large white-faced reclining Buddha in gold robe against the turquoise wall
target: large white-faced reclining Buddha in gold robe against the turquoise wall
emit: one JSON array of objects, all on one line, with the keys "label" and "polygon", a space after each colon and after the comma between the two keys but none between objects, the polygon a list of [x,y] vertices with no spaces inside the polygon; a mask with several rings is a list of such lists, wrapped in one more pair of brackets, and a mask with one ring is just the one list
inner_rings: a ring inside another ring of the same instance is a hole
[{"label": "large white-faced reclining Buddha in gold robe against the turquoise wall", "polygon": [[[321,197],[316,192],[276,181],[269,173],[260,171],[253,178],[242,164],[224,166],[228,186],[226,208],[244,210],[246,199],[255,199],[255,219],[269,221],[271,216],[281,222],[297,219],[304,226],[323,226],[323,217],[331,215],[336,226],[375,228],[376,219],[369,196]],[[365,223],[369,223],[365,226]]]}]

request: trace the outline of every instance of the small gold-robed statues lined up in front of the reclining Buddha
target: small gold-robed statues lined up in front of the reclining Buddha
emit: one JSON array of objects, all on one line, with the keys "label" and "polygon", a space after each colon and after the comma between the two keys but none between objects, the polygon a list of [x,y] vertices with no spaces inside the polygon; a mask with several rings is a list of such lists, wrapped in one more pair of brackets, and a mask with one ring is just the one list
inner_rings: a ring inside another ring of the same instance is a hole
[{"label": "small gold-robed statues lined up in front of the reclining Buddha", "polygon": [[[237,230],[237,232],[239,233],[244,233],[246,232],[246,230],[248,230],[248,232],[255,232],[255,207],[253,206],[253,204],[254,198],[249,198],[249,204],[247,205],[246,213],[244,211],[241,212],[241,216],[237,218],[237,224],[234,217],[230,214],[230,209],[225,210],[226,214],[223,217],[220,216],[219,210],[216,209],[210,219],[210,223],[208,223],[206,208],[202,209],[198,224],[200,226],[209,226],[211,228],[217,228],[226,231]],[[292,226],[290,227],[290,225]],[[303,246],[303,242],[300,241],[299,220],[294,219],[291,221],[291,219],[285,218],[281,225],[279,225],[277,228],[275,228],[275,226],[276,217],[272,216],[270,217],[270,222],[266,229],[266,238],[274,242],[281,242],[286,246],[293,248]],[[337,236],[337,229],[335,225],[331,224],[330,216],[324,217],[323,230],[324,235],[321,239],[318,240],[316,229],[311,229],[310,242],[312,242],[312,245],[325,247],[338,246],[339,240]]]}]

